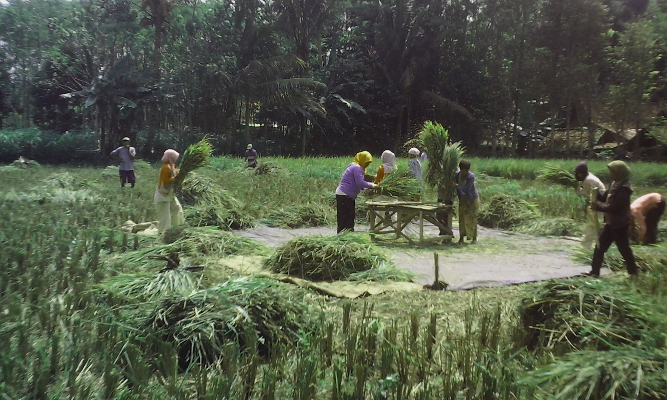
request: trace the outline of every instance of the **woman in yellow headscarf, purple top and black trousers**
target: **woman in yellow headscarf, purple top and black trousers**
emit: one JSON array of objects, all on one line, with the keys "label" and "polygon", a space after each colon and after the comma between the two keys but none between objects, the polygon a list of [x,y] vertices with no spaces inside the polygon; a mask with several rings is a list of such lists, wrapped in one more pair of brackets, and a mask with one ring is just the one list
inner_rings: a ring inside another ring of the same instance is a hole
[{"label": "woman in yellow headscarf, purple top and black trousers", "polygon": [[357,153],[340,179],[340,185],[336,188],[338,233],[354,231],[354,205],[357,195],[364,189],[377,186],[364,180],[366,168],[372,161],[373,156],[368,151]]}]

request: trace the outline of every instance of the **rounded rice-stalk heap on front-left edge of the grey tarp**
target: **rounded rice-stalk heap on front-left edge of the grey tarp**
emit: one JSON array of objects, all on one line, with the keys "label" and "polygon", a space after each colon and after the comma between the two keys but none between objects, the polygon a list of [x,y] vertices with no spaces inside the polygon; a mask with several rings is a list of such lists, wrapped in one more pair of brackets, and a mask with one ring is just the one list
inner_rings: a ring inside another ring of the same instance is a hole
[{"label": "rounded rice-stalk heap on front-left edge of the grey tarp", "polygon": [[343,233],[291,239],[265,259],[263,266],[275,273],[311,281],[337,281],[387,262],[369,239]]}]

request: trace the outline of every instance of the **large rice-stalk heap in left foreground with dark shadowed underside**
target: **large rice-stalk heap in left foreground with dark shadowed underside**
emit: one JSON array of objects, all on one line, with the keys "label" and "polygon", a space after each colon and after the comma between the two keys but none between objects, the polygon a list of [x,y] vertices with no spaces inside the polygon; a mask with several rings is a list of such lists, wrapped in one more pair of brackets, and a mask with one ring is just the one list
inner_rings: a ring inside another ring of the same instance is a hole
[{"label": "large rice-stalk heap in left foreground with dark shadowed underside", "polygon": [[[148,325],[179,348],[181,365],[213,363],[225,344],[246,347],[254,339],[261,355],[296,343],[311,331],[305,291],[258,277],[227,281],[191,295],[165,299]],[[249,335],[252,333],[253,335]]]}]

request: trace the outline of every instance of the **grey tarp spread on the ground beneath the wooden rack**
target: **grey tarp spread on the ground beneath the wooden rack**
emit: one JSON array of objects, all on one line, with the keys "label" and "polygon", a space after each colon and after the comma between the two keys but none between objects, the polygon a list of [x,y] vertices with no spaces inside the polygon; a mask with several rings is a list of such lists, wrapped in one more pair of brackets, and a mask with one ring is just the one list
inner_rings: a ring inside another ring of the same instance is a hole
[{"label": "grey tarp spread on the ground beneath the wooden rack", "polygon": [[[434,225],[425,225],[424,229],[432,235],[438,233],[438,228]],[[357,230],[368,231],[368,227],[358,226]],[[239,233],[267,245],[277,246],[299,236],[335,235],[336,229],[325,227],[282,229],[259,225],[255,229],[240,231]],[[454,235],[458,237],[458,229],[456,228],[454,229]],[[395,249],[386,246],[385,249],[390,253],[392,261],[398,267],[420,274],[416,282],[422,285],[433,283],[433,252],[438,251],[440,256],[440,280],[450,285],[448,290],[466,290],[474,287],[494,287],[574,277],[590,270],[589,265],[577,263],[572,259],[572,254],[579,245],[576,241],[552,237],[515,235],[481,227],[478,228],[478,235],[482,243],[484,239],[493,238],[496,241],[508,241],[508,243],[514,245],[523,243],[527,251],[530,251],[532,247],[544,249],[544,251],[535,251],[534,253],[504,251],[492,254],[476,251],[466,254],[465,251],[461,251],[452,255],[437,249],[406,249],[404,245],[397,246]],[[446,247],[442,247],[442,249],[446,249]],[[603,270],[603,273],[608,273],[608,271]]]}]

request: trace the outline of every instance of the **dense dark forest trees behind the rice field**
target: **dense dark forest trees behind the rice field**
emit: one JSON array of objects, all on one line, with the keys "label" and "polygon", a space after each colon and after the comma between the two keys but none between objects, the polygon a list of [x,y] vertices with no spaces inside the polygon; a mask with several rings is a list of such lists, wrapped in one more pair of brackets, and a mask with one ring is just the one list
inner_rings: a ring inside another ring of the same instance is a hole
[{"label": "dense dark forest trees behind the rice field", "polygon": [[662,140],[666,38],[664,0],[9,0],[0,127],[342,155],[432,120],[478,153],[582,155],[601,126]]}]

